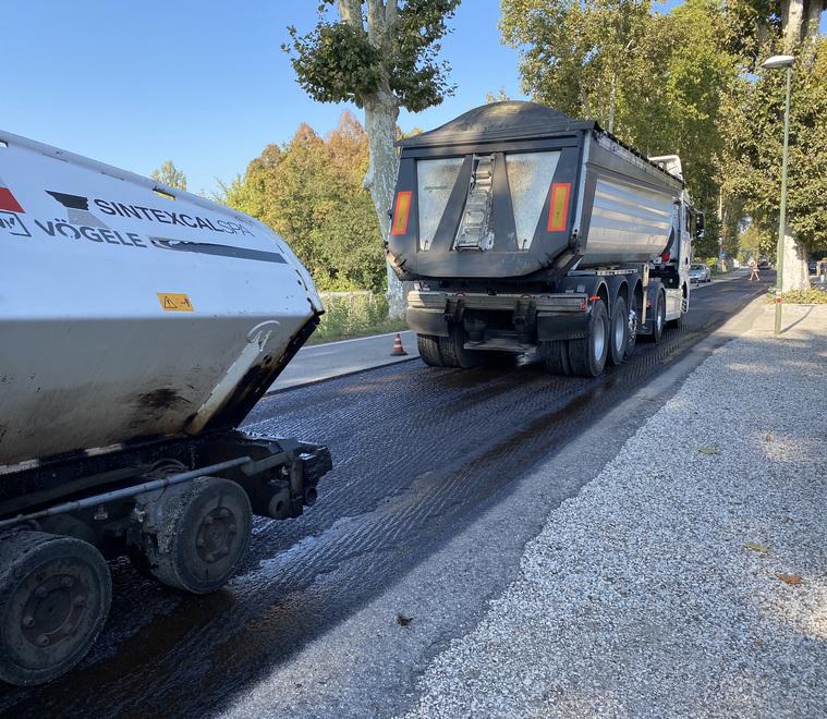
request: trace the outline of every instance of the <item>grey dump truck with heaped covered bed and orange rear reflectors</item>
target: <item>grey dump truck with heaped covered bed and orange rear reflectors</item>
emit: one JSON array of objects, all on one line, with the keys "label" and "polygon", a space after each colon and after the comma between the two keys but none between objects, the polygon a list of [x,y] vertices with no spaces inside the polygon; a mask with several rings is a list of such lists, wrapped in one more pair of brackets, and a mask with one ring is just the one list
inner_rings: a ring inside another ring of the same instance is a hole
[{"label": "grey dump truck with heaped covered bed and orange rear reflectors", "polygon": [[414,283],[406,319],[428,365],[538,354],[551,373],[596,377],[689,310],[703,215],[678,156],[513,101],[400,146],[385,248]]}]

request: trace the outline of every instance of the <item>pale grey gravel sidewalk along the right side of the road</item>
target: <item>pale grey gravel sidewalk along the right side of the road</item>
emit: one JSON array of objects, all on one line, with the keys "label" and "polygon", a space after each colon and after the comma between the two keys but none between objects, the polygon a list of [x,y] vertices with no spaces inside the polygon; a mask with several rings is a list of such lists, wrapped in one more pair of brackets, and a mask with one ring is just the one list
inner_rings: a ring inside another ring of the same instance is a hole
[{"label": "pale grey gravel sidewalk along the right side of the road", "polygon": [[411,716],[824,716],[827,306],[771,326],[549,515]]}]

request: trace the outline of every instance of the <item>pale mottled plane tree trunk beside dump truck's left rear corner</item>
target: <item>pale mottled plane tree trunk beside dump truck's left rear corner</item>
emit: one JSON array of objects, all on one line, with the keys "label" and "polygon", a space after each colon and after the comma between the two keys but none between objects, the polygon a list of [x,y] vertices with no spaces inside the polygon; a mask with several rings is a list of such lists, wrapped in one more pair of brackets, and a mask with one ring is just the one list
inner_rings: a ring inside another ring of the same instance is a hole
[{"label": "pale mottled plane tree trunk beside dump truck's left rear corner", "polygon": [[[370,166],[364,186],[374,200],[382,240],[387,239],[390,231],[390,211],[399,172],[399,155],[394,146],[398,117],[399,103],[390,92],[379,92],[365,102],[365,132],[370,148]],[[404,289],[390,265],[387,270],[389,316],[401,319],[405,313]]]}]

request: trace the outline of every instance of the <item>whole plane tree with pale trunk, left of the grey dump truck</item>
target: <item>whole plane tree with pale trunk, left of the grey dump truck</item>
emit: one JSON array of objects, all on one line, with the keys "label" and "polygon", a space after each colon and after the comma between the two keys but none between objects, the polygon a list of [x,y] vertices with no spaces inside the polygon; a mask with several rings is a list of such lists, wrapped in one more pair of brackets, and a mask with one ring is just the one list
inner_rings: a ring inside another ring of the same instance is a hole
[{"label": "whole plane tree with pale trunk, left of the grey dump truck", "polygon": [[[364,109],[370,162],[369,191],[387,236],[399,155],[394,143],[401,108],[418,112],[452,94],[439,41],[459,0],[323,0],[316,26],[290,27],[290,53],[299,84],[319,102]],[[402,283],[388,267],[390,315],[404,312]]]}]

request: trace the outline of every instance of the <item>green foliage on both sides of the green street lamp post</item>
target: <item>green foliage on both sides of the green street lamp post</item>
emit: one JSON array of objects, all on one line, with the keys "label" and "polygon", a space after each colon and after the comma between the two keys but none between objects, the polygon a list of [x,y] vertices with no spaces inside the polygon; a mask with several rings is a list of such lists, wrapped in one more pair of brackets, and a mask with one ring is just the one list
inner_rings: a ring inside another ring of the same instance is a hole
[{"label": "green foliage on both sides of the green street lamp post", "polygon": [[[767,47],[762,56],[775,49]],[[800,59],[792,76],[788,218],[799,243],[822,247],[827,246],[827,39],[815,44],[812,62]],[[742,198],[766,240],[778,228],[785,87],[783,71],[741,78],[722,117],[726,192]]]}]

